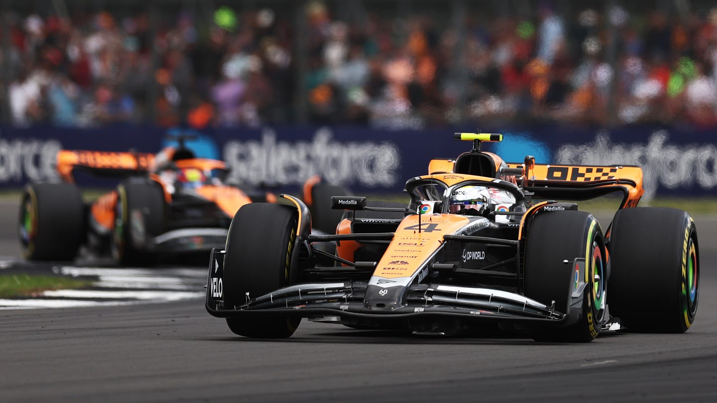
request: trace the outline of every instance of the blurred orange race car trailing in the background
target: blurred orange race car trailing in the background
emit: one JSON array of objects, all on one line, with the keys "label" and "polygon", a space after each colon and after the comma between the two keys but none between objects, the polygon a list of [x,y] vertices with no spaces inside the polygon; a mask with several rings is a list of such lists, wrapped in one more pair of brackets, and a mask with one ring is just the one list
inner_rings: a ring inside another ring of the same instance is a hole
[{"label": "blurred orange race car trailing in the background", "polygon": [[[67,151],[57,154],[62,182],[28,184],[19,239],[27,260],[73,260],[82,245],[120,265],[151,265],[163,253],[224,245],[239,207],[275,201],[224,181],[223,161],[195,158],[179,137],[161,152]],[[86,203],[75,173],[117,176],[113,191]]]}]

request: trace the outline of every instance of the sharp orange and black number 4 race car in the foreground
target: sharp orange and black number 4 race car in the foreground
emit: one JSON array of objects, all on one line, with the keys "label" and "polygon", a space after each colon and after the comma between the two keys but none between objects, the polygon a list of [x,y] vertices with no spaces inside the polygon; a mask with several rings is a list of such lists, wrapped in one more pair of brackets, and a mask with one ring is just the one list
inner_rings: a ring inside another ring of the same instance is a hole
[{"label": "sharp orange and black number 4 race car in the foreground", "polygon": [[[429,334],[511,328],[564,342],[692,325],[695,224],[678,209],[636,207],[640,167],[505,163],[481,151],[501,135],[455,138],[473,150],[409,179],[408,206],[333,197],[346,210],[336,234],[312,234],[293,196],[244,205],[212,250],[206,309],[257,338],[291,336],[302,318]],[[612,192],[623,199],[605,230],[576,203],[552,200]]]}]

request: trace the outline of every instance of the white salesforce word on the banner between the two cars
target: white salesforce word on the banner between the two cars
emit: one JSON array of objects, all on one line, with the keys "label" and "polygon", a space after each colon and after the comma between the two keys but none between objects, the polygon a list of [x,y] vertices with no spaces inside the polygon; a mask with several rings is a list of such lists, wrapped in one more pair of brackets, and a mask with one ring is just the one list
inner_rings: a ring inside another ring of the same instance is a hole
[{"label": "white salesforce word on the banner between the two cars", "polygon": [[300,185],[316,174],[333,184],[393,186],[401,166],[395,143],[336,141],[330,128],[319,128],[310,141],[280,141],[264,128],[258,141],[227,141],[222,154],[231,168],[229,181],[255,186]]}]

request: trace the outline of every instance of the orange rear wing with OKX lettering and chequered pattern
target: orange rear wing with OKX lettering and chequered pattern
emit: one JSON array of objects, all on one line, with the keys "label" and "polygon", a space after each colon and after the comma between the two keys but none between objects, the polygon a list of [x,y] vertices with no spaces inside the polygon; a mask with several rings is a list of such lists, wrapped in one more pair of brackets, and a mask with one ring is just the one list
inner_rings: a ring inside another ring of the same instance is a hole
[{"label": "orange rear wing with OKX lettering and chequered pattern", "polygon": [[[508,163],[524,169],[524,163]],[[518,178],[523,189],[543,199],[587,200],[621,192],[620,208],[635,207],[645,190],[642,169],[634,165],[553,165],[533,163],[525,177]]]}]

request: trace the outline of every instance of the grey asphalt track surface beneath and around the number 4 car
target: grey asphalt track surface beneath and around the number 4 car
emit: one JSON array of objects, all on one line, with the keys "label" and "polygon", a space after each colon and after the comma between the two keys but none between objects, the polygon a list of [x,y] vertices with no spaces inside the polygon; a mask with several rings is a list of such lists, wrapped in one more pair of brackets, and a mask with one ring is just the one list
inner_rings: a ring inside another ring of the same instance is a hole
[{"label": "grey asphalt track surface beneath and around the number 4 car", "polygon": [[[0,255],[17,254],[15,214],[0,206]],[[543,344],[303,321],[262,341],[199,299],[4,310],[0,402],[717,402],[717,217],[695,221],[700,306],[684,334]]]}]

